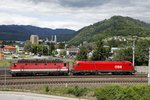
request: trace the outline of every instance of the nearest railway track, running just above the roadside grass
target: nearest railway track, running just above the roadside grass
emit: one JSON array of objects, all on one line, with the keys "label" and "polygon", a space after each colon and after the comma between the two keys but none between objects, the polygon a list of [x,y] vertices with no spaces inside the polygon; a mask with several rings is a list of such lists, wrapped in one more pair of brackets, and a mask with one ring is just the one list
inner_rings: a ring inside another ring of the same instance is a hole
[{"label": "nearest railway track, running just above the roadside grass", "polygon": [[39,84],[135,84],[135,83],[147,83],[147,78],[76,78],[76,79],[22,79],[22,80],[7,80],[0,81],[0,86],[17,86],[17,85],[39,85]]}]

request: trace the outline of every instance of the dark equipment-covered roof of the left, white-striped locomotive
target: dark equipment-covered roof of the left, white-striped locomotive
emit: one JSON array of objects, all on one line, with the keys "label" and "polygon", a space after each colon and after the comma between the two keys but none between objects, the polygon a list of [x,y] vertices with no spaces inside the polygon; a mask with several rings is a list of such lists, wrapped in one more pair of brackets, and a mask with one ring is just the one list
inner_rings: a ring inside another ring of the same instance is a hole
[{"label": "dark equipment-covered roof of the left, white-striped locomotive", "polygon": [[32,62],[36,62],[36,63],[46,63],[46,62],[55,62],[55,63],[60,63],[60,62],[63,62],[62,60],[60,59],[20,59],[18,60],[18,62],[20,63],[32,63]]}]

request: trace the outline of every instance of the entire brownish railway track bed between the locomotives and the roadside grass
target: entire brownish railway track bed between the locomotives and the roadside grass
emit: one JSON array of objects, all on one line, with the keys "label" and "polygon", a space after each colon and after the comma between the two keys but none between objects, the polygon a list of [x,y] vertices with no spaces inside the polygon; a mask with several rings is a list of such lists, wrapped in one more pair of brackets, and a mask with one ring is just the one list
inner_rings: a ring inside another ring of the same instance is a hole
[{"label": "entire brownish railway track bed between the locomotives and the roadside grass", "polygon": [[1,77],[0,87],[22,87],[36,85],[105,85],[105,84],[144,84],[147,75],[103,75],[103,76],[32,76]]}]

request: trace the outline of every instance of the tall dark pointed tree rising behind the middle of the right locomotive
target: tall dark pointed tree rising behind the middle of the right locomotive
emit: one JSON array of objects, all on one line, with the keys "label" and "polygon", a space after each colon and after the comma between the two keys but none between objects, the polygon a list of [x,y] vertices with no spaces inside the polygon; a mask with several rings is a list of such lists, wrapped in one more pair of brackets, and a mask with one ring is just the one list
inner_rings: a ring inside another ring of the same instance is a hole
[{"label": "tall dark pointed tree rising behind the middle of the right locomotive", "polygon": [[96,43],[96,48],[92,55],[92,60],[106,60],[109,55],[109,50],[104,47],[102,39],[98,40]]}]

